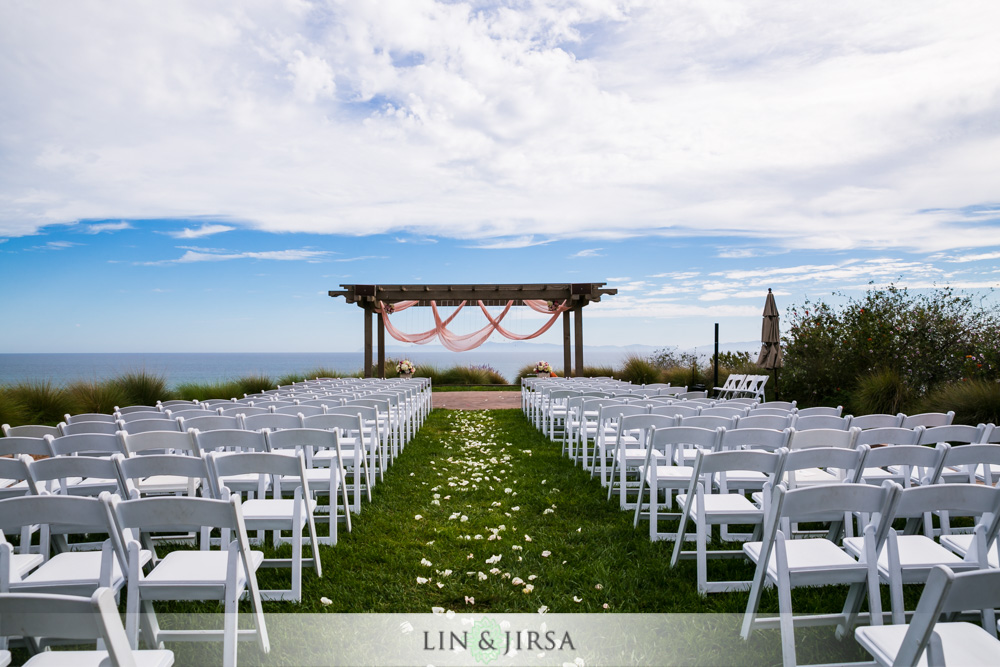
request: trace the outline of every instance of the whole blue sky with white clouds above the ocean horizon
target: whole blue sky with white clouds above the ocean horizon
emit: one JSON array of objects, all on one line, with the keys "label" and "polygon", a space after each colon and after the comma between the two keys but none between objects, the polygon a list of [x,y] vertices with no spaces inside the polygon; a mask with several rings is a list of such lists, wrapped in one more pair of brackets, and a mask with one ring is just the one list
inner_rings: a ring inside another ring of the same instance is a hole
[{"label": "whole blue sky with white clouds above the ocean horizon", "polygon": [[6,0],[0,352],[354,351],[341,284],[607,283],[588,344],[682,348],[759,340],[768,288],[993,298],[998,29],[993,0]]}]

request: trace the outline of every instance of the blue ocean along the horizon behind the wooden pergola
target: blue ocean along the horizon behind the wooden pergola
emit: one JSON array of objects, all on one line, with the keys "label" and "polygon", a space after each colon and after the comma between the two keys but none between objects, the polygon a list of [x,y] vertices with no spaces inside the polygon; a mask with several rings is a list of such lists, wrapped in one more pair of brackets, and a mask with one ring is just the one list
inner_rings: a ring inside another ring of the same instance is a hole
[{"label": "blue ocean along the horizon behind the wooden pergola", "polygon": [[[548,356],[545,356],[545,355]],[[586,353],[586,364],[617,365],[622,351]],[[562,355],[529,349],[517,351],[476,350],[463,353],[390,351],[394,359],[407,358],[415,364],[439,368],[489,365],[508,380],[525,364],[546,359],[554,367],[562,366]],[[360,352],[204,352],[204,353],[58,353],[0,354],[0,385],[23,380],[50,380],[66,384],[75,380],[103,380],[121,373],[146,370],[162,375],[171,387],[185,382],[214,382],[243,375],[263,373],[278,378],[289,373],[304,373],[314,368],[331,368],[345,373],[359,371],[364,365]]]}]

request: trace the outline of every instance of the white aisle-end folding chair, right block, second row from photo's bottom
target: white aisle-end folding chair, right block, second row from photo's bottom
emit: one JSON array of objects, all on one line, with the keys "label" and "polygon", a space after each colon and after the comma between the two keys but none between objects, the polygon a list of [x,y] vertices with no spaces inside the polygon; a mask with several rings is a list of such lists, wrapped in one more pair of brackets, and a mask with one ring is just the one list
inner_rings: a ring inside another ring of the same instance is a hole
[{"label": "white aisle-end folding chair, right block, second row from photo's bottom", "polygon": [[[770,512],[764,524],[763,539],[747,542],[743,551],[756,564],[750,599],[743,616],[741,636],[749,638],[755,627],[781,630],[781,654],[785,667],[797,664],[795,625],[822,622],[839,624],[838,634],[850,631],[867,594],[871,623],[882,623],[882,604],[878,585],[878,553],[888,535],[889,525],[899,495],[899,485],[886,482],[881,487],[866,484],[829,484],[786,490],[784,484],[774,489]],[[864,528],[862,557],[855,560],[836,543],[845,513],[864,513],[871,521]],[[830,539],[787,537],[793,522],[824,522],[834,526]],[[757,609],[765,584],[777,587],[778,618],[759,619]],[[793,617],[792,589],[799,586],[850,584],[844,609],[840,614]]]}]

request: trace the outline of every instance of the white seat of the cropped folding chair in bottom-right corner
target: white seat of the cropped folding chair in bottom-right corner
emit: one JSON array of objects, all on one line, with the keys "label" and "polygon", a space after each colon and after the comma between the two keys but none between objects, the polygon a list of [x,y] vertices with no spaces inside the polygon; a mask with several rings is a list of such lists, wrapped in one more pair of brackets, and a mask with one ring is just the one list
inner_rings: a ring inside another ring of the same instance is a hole
[{"label": "white seat of the cropped folding chair in bottom-right corner", "polygon": [[[856,628],[854,636],[858,643],[872,654],[882,665],[891,665],[903,645],[906,625],[880,625]],[[990,636],[986,630],[973,623],[937,623],[934,632],[941,638],[945,664],[996,665],[1000,656],[1000,641]],[[927,664],[926,652],[919,665]]]}]

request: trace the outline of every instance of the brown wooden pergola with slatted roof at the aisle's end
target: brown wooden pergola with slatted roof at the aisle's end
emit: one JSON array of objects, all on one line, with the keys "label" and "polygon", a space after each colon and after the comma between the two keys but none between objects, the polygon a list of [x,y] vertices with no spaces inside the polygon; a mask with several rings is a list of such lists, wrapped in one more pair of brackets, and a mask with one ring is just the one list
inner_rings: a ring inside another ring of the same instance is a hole
[{"label": "brown wooden pergola with slatted roof at the aisle's end", "polygon": [[[417,301],[418,306],[457,306],[463,301],[482,301],[487,306],[506,306],[513,301],[523,306],[525,299],[566,302],[570,310],[563,312],[563,373],[573,373],[570,347],[570,312],[573,313],[573,331],[576,346],[576,374],[583,373],[583,307],[602,296],[618,293],[604,287],[607,283],[563,283],[530,285],[341,285],[343,289],[330,290],[332,297],[344,297],[364,310],[365,319],[365,377],[372,373],[372,316],[377,315],[379,302],[395,304],[400,301]],[[385,323],[378,319],[378,373],[385,377]]]}]

